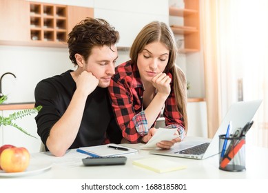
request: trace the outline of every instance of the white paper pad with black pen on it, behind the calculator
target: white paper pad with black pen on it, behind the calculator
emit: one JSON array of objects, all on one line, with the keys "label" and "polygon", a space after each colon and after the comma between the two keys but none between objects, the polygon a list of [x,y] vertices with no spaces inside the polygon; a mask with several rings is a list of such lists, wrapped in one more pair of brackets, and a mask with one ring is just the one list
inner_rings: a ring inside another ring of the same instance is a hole
[{"label": "white paper pad with black pen on it, behind the calculator", "polygon": [[[108,146],[110,146],[110,147],[112,146],[112,148],[108,148]],[[127,149],[127,150],[120,150],[121,148]],[[118,155],[132,154],[132,153],[138,152],[138,150],[136,150],[136,149],[126,148],[122,145],[118,145],[118,144],[114,144],[114,143],[79,148],[79,150],[83,150],[85,152],[89,152],[90,154],[95,154],[98,156],[118,156]]]}]

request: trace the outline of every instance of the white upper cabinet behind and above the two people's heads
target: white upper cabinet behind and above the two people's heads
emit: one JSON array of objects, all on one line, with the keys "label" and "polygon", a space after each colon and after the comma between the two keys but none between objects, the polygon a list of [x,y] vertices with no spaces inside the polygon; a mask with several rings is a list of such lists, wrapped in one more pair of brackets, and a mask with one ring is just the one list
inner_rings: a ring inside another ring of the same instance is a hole
[{"label": "white upper cabinet behind and above the two people's heads", "polygon": [[138,32],[151,21],[169,23],[166,0],[98,0],[94,3],[94,18],[106,19],[118,30],[118,47],[129,48]]}]

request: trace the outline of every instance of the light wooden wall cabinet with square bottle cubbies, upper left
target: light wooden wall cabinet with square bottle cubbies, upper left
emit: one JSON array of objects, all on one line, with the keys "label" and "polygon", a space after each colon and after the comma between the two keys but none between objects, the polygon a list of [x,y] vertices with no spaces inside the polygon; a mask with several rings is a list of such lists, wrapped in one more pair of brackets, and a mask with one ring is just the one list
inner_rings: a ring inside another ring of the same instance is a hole
[{"label": "light wooden wall cabinet with square bottle cubbies, upper left", "polygon": [[1,0],[0,45],[68,48],[68,32],[94,9],[25,0]]}]

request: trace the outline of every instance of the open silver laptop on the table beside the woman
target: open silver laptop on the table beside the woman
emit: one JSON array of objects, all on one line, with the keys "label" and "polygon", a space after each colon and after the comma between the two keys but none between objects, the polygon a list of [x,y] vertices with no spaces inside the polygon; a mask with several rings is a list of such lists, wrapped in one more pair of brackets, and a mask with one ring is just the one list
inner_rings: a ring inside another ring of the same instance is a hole
[{"label": "open silver laptop on the table beside the woman", "polygon": [[[247,122],[250,122],[256,111],[258,110],[262,100],[255,101],[240,101],[233,103],[225,115],[220,127],[218,128],[213,139],[198,139],[192,140],[191,137],[185,137],[185,139],[176,143],[169,150],[156,149],[150,151],[150,154],[158,154],[165,156],[178,156],[189,159],[206,159],[210,156],[220,153],[218,150],[218,136],[220,134],[226,134],[227,126],[229,122],[232,123],[232,131],[235,128],[243,128]],[[192,153],[192,150],[198,149],[198,152]]]}]

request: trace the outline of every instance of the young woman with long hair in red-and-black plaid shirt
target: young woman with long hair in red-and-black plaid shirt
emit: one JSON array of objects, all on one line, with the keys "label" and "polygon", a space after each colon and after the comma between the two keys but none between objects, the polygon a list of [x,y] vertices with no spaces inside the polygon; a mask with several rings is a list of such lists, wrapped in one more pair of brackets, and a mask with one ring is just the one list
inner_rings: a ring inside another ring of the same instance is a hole
[{"label": "young woman with long hair in red-and-black plaid shirt", "polygon": [[123,138],[130,143],[147,142],[156,129],[156,119],[164,107],[166,128],[178,128],[170,148],[187,132],[185,75],[175,64],[176,41],[165,23],[147,24],[132,44],[130,61],[116,67],[110,81],[112,108]]}]

